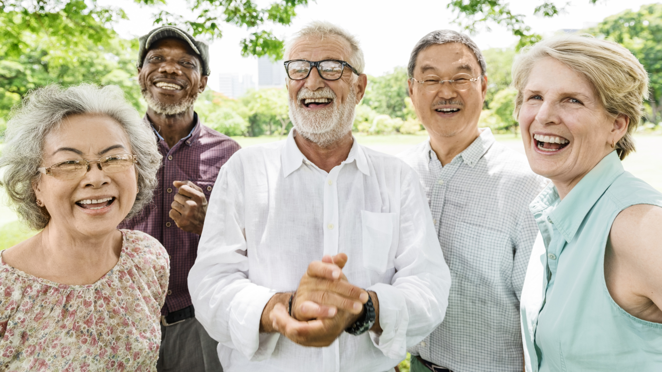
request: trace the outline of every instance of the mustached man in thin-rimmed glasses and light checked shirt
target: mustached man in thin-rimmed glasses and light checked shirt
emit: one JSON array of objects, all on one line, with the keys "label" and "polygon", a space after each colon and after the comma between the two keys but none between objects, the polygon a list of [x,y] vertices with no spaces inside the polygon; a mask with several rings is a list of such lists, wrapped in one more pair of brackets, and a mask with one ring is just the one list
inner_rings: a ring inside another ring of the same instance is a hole
[{"label": "mustached man in thin-rimmed glasses and light checked shirt", "polygon": [[422,38],[409,95],[430,140],[401,154],[425,189],[451,271],[444,322],[409,349],[412,372],[522,371],[520,293],[538,233],[529,203],[547,180],[524,156],[478,128],[485,59],[464,34]]}]

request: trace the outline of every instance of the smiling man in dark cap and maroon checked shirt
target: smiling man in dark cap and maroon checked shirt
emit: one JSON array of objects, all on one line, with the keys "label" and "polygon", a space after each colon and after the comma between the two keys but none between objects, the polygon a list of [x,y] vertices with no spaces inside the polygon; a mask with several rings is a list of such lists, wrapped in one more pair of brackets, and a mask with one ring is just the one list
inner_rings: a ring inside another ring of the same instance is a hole
[{"label": "smiling man in dark cap and maroon checked shirt", "polygon": [[193,103],[207,86],[209,49],[173,26],[140,37],[138,81],[148,103],[146,120],[163,155],[153,203],[120,228],[146,232],[170,259],[161,349],[156,365],[167,371],[222,371],[216,344],[195,319],[187,275],[195,258],[207,201],[218,170],[240,146],[204,126]]}]

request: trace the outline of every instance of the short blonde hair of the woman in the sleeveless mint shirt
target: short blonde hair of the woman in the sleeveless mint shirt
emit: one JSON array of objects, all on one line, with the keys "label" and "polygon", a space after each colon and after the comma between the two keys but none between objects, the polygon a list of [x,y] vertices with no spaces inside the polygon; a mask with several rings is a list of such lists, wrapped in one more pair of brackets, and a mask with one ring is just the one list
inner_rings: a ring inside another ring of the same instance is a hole
[{"label": "short blonde hair of the woman in the sleeveless mint shirt", "polygon": [[648,73],[630,50],[589,34],[555,36],[528,46],[512,65],[512,84],[517,89],[514,116],[522,108],[522,94],[536,62],[553,58],[583,75],[595,89],[602,107],[612,117],[630,118],[626,134],[616,142],[620,159],[635,150],[632,133],[643,117],[648,98]]}]

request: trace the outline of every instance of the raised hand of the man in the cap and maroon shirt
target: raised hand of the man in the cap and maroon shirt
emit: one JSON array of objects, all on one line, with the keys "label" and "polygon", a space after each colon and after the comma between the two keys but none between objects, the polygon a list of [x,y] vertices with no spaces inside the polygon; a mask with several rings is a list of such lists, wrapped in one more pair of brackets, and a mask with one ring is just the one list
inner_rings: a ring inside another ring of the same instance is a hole
[{"label": "raised hand of the man in the cap and maroon shirt", "polygon": [[191,181],[174,181],[172,184],[178,191],[168,215],[181,230],[202,234],[207,214],[207,197],[203,189]]}]

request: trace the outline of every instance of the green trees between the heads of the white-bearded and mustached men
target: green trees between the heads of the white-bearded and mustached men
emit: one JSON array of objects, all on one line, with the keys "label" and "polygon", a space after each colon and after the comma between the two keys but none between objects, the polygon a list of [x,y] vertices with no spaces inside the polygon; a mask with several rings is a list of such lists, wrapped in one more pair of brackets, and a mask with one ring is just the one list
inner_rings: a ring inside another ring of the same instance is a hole
[{"label": "green trees between the heads of the white-bearded and mustached men", "polygon": [[408,97],[407,70],[397,67],[391,73],[379,77],[368,77],[368,85],[363,96],[363,105],[377,113],[404,120],[404,99]]}]

